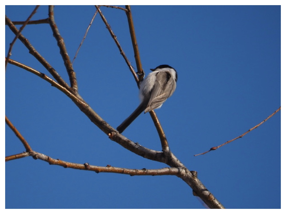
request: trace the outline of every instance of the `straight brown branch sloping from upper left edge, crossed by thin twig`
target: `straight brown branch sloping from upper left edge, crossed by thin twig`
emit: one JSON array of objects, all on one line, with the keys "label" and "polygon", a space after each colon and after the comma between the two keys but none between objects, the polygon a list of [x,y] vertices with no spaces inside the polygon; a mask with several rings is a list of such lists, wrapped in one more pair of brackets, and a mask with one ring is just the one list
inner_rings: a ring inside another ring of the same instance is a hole
[{"label": "straight brown branch sloping from upper left edge, crossed by thin twig", "polygon": [[[12,21],[5,15],[5,22],[7,23],[8,27],[11,29],[11,31],[17,35],[19,32],[18,29],[15,27],[15,25],[12,23]],[[56,72],[56,70],[39,54],[34,47],[31,45],[28,39],[26,39],[22,34],[19,34],[19,40],[27,47],[29,50],[29,53],[34,56],[49,72],[50,74],[55,78],[55,80],[63,87],[70,90],[69,85],[59,76],[59,74]],[[6,60],[7,61],[7,60]],[[72,90],[70,90],[72,91]]]}]

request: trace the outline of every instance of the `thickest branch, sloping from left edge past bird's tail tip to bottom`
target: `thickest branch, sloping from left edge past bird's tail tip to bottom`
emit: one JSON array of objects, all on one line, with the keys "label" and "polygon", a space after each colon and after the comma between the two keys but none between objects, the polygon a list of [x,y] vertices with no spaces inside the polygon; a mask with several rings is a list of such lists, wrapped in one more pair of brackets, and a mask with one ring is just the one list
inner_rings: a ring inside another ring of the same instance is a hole
[{"label": "thickest branch, sloping from left edge past bird's tail tip to bottom", "polygon": [[[197,177],[197,173],[195,171],[189,171],[171,152],[169,153],[169,156],[166,157],[163,154],[163,152],[150,150],[148,148],[141,146],[138,143],[132,142],[123,135],[118,134],[118,132],[114,128],[112,128],[106,121],[100,118],[100,116],[98,116],[90,108],[90,106],[86,102],[84,102],[84,100],[77,98],[77,96],[69,92],[69,90],[56,83],[45,74],[40,73],[28,66],[25,66],[11,59],[9,59],[8,62],[36,74],[37,76],[49,82],[52,86],[55,86],[63,93],[65,93],[69,98],[72,99],[72,101],[78,106],[78,108],[80,108],[80,110],[84,112],[84,114],[86,114],[88,118],[90,118],[90,120],[96,126],[98,126],[104,133],[108,134],[111,140],[117,142],[124,148],[128,149],[129,151],[139,156],[142,156],[150,160],[166,163],[172,168],[180,168],[181,169],[180,173],[176,174],[176,176],[180,177],[184,182],[186,182],[193,189],[194,194],[200,197],[200,199],[202,199],[202,201],[204,201],[204,203],[206,203],[206,205],[209,208],[220,208],[220,209],[224,208],[223,205],[221,205],[221,203],[212,195],[212,193],[208,191],[208,189],[206,189],[206,187],[201,183],[201,181]],[[48,156],[42,156],[42,154],[39,153],[32,153],[31,156],[39,159],[42,158],[43,160],[49,159]]]}]

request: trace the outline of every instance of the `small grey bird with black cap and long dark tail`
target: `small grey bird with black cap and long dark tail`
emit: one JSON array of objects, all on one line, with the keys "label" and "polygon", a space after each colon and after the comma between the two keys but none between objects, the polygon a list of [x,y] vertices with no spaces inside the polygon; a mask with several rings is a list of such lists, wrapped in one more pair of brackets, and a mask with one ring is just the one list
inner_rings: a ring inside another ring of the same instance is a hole
[{"label": "small grey bird with black cap and long dark tail", "polygon": [[116,129],[122,133],[143,111],[160,108],[176,89],[177,72],[169,65],[159,65],[139,84],[141,103]]}]

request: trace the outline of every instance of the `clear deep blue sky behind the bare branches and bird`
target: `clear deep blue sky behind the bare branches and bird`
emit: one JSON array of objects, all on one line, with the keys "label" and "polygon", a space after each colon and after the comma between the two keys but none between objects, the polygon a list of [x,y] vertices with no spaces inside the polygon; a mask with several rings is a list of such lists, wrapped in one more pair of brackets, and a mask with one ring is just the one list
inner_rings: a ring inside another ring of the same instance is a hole
[{"label": "clear deep blue sky behind the bare branches and bird", "polygon": [[[24,21],[34,7],[5,6],[5,14],[12,21]],[[124,11],[101,10],[136,67]],[[131,6],[131,10],[146,74],[160,64],[178,72],[176,91],[155,110],[174,155],[198,172],[226,208],[280,208],[280,112],[243,138],[194,155],[240,136],[281,106],[281,7]],[[55,6],[54,11],[72,59],[96,9]],[[32,20],[47,15],[48,7],[40,6]],[[23,35],[68,81],[49,25],[29,25]],[[5,56],[13,39],[5,26]],[[19,40],[11,59],[49,75]],[[80,95],[114,128],[139,104],[134,78],[99,15],[74,70]],[[109,140],[62,92],[11,64],[5,73],[5,115],[33,150],[55,159],[131,169],[166,167]],[[122,134],[161,151],[149,114],[141,114]],[[5,125],[5,156],[24,150]],[[96,174],[27,157],[5,163],[5,208],[204,207],[176,176]]]}]

